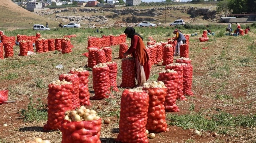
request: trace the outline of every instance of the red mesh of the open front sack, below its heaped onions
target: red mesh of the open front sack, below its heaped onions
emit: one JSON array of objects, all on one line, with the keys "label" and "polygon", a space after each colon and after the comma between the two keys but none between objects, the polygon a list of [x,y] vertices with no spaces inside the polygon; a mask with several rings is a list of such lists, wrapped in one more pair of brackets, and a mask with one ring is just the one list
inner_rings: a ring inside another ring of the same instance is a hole
[{"label": "red mesh of the open front sack, below its heaped onions", "polygon": [[63,120],[60,131],[61,143],[101,143],[101,119],[82,122],[69,122]]}]

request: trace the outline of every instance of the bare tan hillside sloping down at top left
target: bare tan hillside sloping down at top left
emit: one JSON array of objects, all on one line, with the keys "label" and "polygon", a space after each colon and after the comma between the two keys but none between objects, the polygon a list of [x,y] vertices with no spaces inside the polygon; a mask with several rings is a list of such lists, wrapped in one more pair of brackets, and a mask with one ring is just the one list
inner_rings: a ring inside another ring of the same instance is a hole
[{"label": "bare tan hillside sloping down at top left", "polygon": [[50,23],[49,26],[57,25],[57,22],[29,12],[11,0],[1,0],[0,7],[0,28],[32,28],[32,24],[29,23],[45,25],[46,22]]}]

